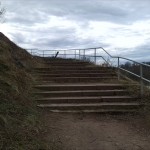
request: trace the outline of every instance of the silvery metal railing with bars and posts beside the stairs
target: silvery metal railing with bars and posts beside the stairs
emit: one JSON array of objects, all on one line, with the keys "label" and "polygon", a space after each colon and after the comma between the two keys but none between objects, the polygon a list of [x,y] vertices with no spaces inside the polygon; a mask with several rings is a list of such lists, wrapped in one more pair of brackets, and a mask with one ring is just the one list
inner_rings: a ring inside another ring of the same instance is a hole
[{"label": "silvery metal railing with bars and posts beside the stairs", "polygon": [[[93,50],[93,51],[91,51]],[[99,50],[99,51],[98,51]],[[102,51],[102,54],[100,53]],[[75,57],[75,59],[84,59],[84,58],[88,58],[89,61],[93,61],[95,62],[95,64],[97,64],[97,60],[102,61],[100,59],[97,58],[102,58],[104,62],[106,62],[107,65],[109,66],[114,66],[115,68],[117,68],[118,70],[118,80],[120,79],[120,70],[125,71],[135,77],[138,77],[140,79],[140,83],[141,83],[141,87],[140,87],[140,94],[141,96],[143,95],[143,81],[146,81],[148,83],[150,83],[149,79],[146,79],[143,77],[143,66],[145,67],[149,67],[150,69],[150,65],[146,64],[146,63],[140,63],[137,62],[135,60],[129,59],[129,58],[125,58],[125,57],[120,57],[120,56],[112,56],[109,52],[107,52],[103,47],[95,47],[95,48],[84,48],[84,49],[53,49],[53,50],[48,50],[48,49],[43,49],[43,50],[39,50],[39,49],[27,49],[27,51],[30,51],[30,53],[32,55],[37,55],[37,56],[43,56],[43,57],[53,57],[55,56],[55,53],[59,53],[59,57],[65,57],[65,58],[73,58]],[[68,53],[69,52],[69,53]],[[85,55],[85,52],[87,53]],[[41,54],[40,54],[41,53]],[[105,53],[105,54],[104,54]],[[92,60],[91,60],[92,57]],[[105,59],[105,57],[108,57],[109,59]],[[113,60],[112,60],[113,59]],[[117,60],[118,65],[114,65],[113,61]],[[128,71],[126,69],[123,69],[120,67],[120,61],[124,60],[123,62],[125,63],[125,61],[130,61],[132,63],[136,63],[137,65],[139,65],[139,69],[140,69],[140,75],[135,74],[134,72]]]}]

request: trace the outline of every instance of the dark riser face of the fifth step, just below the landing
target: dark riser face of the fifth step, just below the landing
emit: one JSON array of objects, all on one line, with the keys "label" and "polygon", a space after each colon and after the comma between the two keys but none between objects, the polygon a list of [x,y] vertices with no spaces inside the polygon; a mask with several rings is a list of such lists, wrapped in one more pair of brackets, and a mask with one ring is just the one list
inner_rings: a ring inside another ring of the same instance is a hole
[{"label": "dark riser face of the fifth step, just below the landing", "polygon": [[39,90],[45,91],[76,91],[76,90],[115,90],[115,89],[124,89],[121,86],[45,86],[45,87],[35,87]]}]

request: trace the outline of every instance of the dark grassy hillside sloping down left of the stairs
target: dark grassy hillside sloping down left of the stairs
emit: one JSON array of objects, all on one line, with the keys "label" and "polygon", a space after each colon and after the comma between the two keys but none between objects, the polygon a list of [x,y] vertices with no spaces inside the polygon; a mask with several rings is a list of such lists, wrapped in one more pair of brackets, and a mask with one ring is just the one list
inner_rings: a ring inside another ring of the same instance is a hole
[{"label": "dark grassy hillside sloping down left of the stairs", "polygon": [[[32,64],[32,65],[31,65]],[[37,150],[43,146],[29,73],[39,63],[0,33],[0,149]]]}]

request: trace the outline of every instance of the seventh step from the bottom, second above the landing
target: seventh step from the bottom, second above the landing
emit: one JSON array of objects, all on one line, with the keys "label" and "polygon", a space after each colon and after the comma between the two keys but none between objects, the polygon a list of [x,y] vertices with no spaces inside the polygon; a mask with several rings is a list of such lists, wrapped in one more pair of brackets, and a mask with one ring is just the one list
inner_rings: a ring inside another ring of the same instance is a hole
[{"label": "seventh step from the bottom, second above the landing", "polygon": [[115,73],[47,73],[47,74],[38,74],[42,78],[51,78],[51,77],[105,77],[105,76],[116,76]]}]

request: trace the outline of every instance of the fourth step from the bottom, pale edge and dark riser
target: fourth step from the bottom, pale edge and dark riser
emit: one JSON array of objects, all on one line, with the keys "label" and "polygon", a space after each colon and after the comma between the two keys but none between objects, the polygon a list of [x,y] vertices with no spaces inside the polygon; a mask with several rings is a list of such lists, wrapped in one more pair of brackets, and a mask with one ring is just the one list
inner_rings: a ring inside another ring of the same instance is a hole
[{"label": "fourth step from the bottom, pale edge and dark riser", "polygon": [[126,90],[78,90],[78,91],[42,91],[36,92],[41,97],[87,97],[87,96],[121,96]]}]

